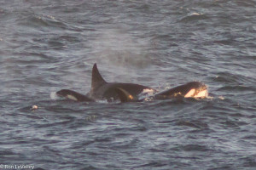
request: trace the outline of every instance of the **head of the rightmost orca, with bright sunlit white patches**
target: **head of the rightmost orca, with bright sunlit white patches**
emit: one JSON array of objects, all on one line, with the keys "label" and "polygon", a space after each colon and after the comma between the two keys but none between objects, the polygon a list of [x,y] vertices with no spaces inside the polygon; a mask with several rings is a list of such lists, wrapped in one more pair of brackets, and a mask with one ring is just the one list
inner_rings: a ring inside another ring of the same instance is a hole
[{"label": "head of the rightmost orca, with bright sunlit white patches", "polygon": [[202,82],[188,82],[184,85],[188,92],[184,94],[184,98],[207,98],[207,85]]}]

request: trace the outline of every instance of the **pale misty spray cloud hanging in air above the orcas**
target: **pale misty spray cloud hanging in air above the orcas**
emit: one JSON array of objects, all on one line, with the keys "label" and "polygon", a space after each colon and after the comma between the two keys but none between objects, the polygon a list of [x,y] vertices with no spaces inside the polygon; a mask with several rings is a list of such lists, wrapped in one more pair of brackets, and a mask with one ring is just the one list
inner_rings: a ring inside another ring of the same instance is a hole
[{"label": "pale misty spray cloud hanging in air above the orcas", "polygon": [[128,76],[129,72],[127,78],[130,79],[137,75],[137,70],[150,65],[151,59],[146,53],[149,43],[133,38],[120,29],[101,30],[91,46],[94,57],[92,62],[100,65],[100,71],[107,69],[119,76]]}]

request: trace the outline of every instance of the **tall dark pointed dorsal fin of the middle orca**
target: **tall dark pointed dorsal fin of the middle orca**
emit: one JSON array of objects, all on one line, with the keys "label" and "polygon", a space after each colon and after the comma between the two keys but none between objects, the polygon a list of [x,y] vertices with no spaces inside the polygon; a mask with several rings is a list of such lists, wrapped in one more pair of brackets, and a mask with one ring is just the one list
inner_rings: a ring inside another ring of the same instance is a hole
[{"label": "tall dark pointed dorsal fin of the middle orca", "polygon": [[100,72],[98,71],[96,63],[93,65],[91,72],[91,92],[93,92],[96,88],[99,88],[103,84],[107,83],[103,78]]}]

